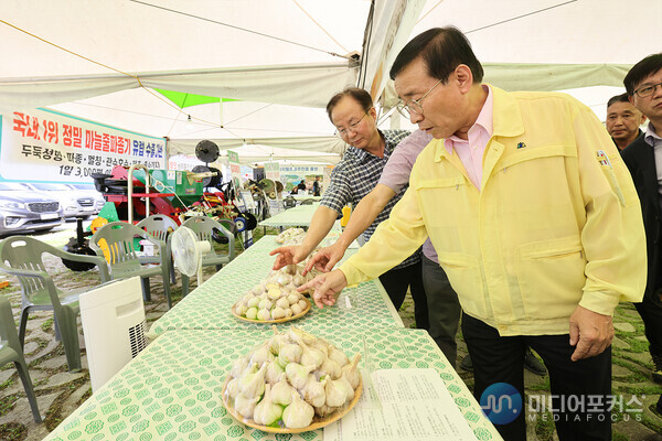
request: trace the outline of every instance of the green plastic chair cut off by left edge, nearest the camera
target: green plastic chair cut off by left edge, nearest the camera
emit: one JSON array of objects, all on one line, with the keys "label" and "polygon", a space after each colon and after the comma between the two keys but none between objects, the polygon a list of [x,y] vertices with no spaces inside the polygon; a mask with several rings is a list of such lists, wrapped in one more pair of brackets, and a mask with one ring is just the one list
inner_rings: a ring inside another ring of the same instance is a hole
[{"label": "green plastic chair cut off by left edge, nearest the camera", "polygon": [[35,422],[42,422],[39,407],[36,406],[36,397],[32,389],[32,380],[28,372],[28,363],[25,363],[19,334],[17,334],[17,326],[13,322],[11,304],[9,304],[9,300],[0,298],[0,367],[10,362],[13,362],[19,372],[19,377],[21,377],[21,383],[23,383],[25,396],[32,409],[32,418],[34,418]]}]

